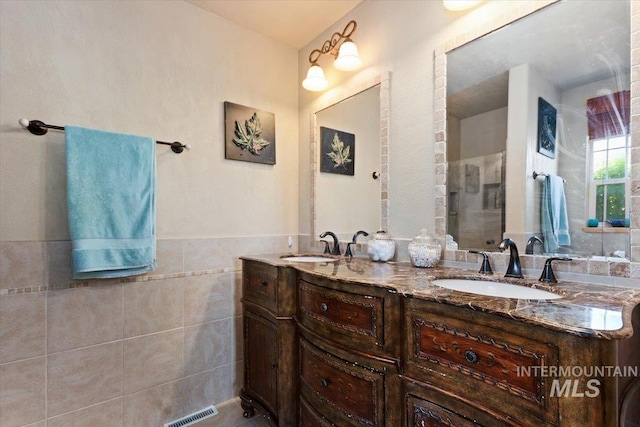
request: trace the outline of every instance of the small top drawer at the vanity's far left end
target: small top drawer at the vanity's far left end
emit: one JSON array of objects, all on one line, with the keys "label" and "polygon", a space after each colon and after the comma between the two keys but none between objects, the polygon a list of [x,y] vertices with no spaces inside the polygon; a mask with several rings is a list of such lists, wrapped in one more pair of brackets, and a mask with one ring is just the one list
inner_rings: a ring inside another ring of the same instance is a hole
[{"label": "small top drawer at the vanity's far left end", "polygon": [[260,304],[272,312],[276,312],[278,303],[278,269],[276,267],[250,263],[243,266],[244,289],[242,298],[245,301]]}]

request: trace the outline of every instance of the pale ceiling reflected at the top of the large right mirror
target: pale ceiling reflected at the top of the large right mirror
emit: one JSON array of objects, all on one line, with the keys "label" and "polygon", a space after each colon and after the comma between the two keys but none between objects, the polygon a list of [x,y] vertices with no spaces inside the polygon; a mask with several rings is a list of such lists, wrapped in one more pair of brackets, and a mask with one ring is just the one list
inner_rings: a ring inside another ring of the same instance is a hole
[{"label": "pale ceiling reflected at the top of the large right mirror", "polygon": [[506,106],[508,71],[521,64],[559,90],[629,73],[629,22],[626,1],[566,1],[461,46],[447,53],[447,110],[465,118]]}]

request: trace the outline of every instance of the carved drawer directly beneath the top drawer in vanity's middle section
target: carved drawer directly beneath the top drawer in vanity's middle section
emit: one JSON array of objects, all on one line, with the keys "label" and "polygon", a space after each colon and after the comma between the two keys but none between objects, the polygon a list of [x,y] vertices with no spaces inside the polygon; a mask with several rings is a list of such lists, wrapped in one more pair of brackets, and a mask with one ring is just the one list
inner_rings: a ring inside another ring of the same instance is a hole
[{"label": "carved drawer directly beneath the top drawer in vanity's middle section", "polygon": [[383,372],[300,340],[302,396],[338,425],[384,425],[384,379]]}]

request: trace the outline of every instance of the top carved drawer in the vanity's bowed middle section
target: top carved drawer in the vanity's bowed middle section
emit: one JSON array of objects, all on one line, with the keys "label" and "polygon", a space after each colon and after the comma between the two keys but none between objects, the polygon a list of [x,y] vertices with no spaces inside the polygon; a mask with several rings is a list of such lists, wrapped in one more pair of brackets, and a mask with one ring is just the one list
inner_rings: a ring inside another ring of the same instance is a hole
[{"label": "top carved drawer in the vanity's bowed middle section", "polygon": [[299,281],[301,323],[347,344],[384,345],[383,299]]}]

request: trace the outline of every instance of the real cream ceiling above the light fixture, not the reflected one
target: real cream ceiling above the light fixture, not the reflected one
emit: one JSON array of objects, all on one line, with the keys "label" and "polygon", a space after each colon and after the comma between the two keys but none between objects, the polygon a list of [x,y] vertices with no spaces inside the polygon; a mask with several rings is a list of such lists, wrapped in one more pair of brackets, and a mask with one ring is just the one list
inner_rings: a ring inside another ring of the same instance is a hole
[{"label": "real cream ceiling above the light fixture, not the reflected one", "polygon": [[300,50],[364,0],[185,1]]}]

